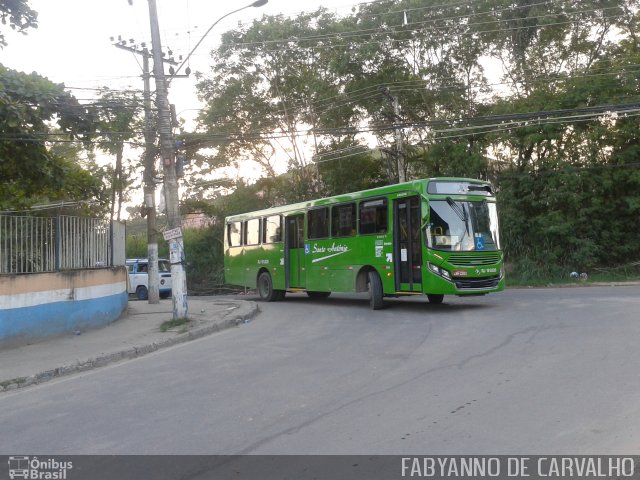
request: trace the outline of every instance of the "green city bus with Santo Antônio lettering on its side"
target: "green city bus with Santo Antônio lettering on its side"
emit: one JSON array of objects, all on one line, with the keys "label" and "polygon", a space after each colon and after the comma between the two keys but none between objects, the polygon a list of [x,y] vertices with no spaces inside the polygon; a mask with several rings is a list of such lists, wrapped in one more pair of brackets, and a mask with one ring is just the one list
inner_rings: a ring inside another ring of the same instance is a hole
[{"label": "green city bus with Santo Ant\u00f4nio lettering on its side", "polygon": [[224,272],[265,301],[368,292],[384,297],[504,290],[491,184],[430,178],[225,219]]}]

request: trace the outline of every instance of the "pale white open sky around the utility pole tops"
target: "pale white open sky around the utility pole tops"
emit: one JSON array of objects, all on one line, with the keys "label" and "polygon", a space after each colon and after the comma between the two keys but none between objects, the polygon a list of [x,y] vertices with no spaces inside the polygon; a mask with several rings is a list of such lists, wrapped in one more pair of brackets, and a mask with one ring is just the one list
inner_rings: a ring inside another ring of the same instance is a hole
[{"label": "pale white open sky around the utility pole tops", "polygon": [[[207,29],[220,17],[249,5],[216,0],[157,0],[163,50],[187,56]],[[150,45],[149,10],[146,0],[30,0],[38,12],[37,29],[27,35],[3,31],[9,45],[0,50],[0,63],[14,70],[35,71],[55,83],[64,83],[80,101],[90,99],[93,89],[142,89],[141,59],[113,46],[110,37],[133,39]],[[192,71],[208,71],[209,52],[220,35],[238,22],[251,22],[262,15],[295,16],[324,6],[336,13],[349,13],[361,0],[269,0],[267,5],[248,8],[222,20],[205,38],[190,59]],[[193,118],[201,104],[195,79],[176,78],[169,101],[178,115]],[[152,83],[152,89],[154,88]]]}]

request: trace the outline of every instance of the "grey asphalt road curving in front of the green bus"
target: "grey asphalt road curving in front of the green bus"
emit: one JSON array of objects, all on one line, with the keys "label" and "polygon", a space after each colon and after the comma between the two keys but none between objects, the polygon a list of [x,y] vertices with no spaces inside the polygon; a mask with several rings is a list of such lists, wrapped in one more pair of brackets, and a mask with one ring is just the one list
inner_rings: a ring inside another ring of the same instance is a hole
[{"label": "grey asphalt road curving in front of the green bus", "polygon": [[249,324],[0,396],[0,454],[630,454],[640,287],[391,302]]}]

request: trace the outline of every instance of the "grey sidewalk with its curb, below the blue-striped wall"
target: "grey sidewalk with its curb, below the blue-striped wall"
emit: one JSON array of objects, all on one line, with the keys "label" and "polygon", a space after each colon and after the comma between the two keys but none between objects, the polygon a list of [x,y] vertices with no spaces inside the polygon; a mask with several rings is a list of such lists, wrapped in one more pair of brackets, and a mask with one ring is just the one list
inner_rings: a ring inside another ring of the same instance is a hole
[{"label": "grey sidewalk with its curb, below the blue-striped wall", "polygon": [[122,318],[106,327],[0,348],[0,392],[194,340],[245,323],[257,311],[257,305],[246,300],[189,297],[189,325],[162,332],[160,325],[172,318],[171,299],[156,305],[130,299]]}]

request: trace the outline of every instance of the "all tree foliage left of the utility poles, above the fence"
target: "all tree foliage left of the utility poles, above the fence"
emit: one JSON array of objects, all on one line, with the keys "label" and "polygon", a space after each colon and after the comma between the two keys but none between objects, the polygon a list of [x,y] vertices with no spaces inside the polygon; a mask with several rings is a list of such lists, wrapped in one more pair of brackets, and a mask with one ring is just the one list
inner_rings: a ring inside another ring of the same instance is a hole
[{"label": "all tree foliage left of the utility poles, above the fence", "polygon": [[[28,0],[0,0],[0,19],[21,33],[38,25]],[[0,31],[0,48],[6,45]],[[100,97],[80,104],[63,85],[0,65],[0,210],[62,200],[93,213],[110,204],[120,218],[131,184],[124,146],[139,130],[140,102],[106,89]],[[97,166],[96,146],[116,157],[114,168]]]}]

